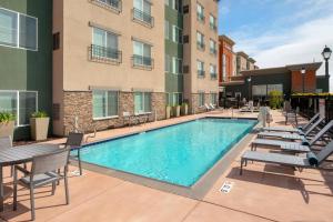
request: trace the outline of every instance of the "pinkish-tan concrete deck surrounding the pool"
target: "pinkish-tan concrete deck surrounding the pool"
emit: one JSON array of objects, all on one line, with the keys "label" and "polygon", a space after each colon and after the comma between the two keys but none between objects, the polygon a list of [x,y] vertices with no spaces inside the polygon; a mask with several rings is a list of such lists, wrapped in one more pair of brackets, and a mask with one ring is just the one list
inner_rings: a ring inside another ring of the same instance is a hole
[{"label": "pinkish-tan concrete deck surrounding the pool", "polygon": [[[201,117],[228,117],[230,111],[171,119],[132,128],[99,132],[102,140],[125,133],[188,121]],[[238,117],[255,118],[256,113],[234,113]],[[275,125],[284,124],[279,111],[273,111]],[[92,141],[92,140],[90,140]],[[63,140],[50,141],[60,143]],[[243,145],[249,150],[250,141]],[[261,150],[268,152],[269,150]],[[250,163],[239,175],[240,155],[232,160],[224,173],[218,174],[212,188],[194,200],[170,192],[152,189],[119,178],[83,171],[82,176],[69,180],[69,205],[64,205],[64,189],[61,183],[56,195],[51,188],[38,189],[37,221],[332,221],[333,171],[294,171],[272,164]],[[332,159],[332,158],[331,158]],[[332,162],[326,165],[333,169]],[[75,170],[71,167],[71,171]],[[11,186],[9,168],[4,169],[6,181]],[[232,182],[229,193],[220,192],[224,182]],[[29,192],[19,191],[18,211],[11,210],[11,199],[0,213],[2,220],[29,221]]]}]

